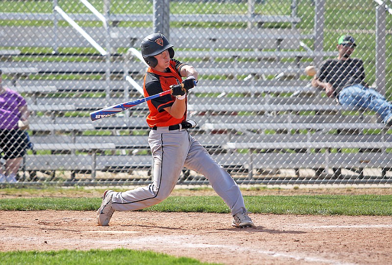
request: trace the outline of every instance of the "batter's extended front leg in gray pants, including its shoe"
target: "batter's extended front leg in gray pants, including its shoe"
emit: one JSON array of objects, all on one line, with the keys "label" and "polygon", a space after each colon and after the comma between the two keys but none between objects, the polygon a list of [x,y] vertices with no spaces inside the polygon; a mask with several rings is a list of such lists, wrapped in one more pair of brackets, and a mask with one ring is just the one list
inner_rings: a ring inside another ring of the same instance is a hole
[{"label": "batter's extended front leg in gray pants, including its shoe", "polygon": [[254,227],[250,217],[247,216],[244,198],[237,183],[195,138],[191,135],[189,138],[191,147],[184,166],[203,174],[209,180],[214,191],[229,206],[232,216],[241,218],[238,224]]}]

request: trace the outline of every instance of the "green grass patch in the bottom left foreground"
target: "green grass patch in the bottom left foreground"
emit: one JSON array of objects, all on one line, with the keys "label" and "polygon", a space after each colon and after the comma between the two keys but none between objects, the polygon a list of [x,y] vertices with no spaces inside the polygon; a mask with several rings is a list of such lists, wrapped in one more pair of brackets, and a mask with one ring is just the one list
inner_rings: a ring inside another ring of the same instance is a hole
[{"label": "green grass patch in the bottom left foreground", "polygon": [[130,249],[114,250],[60,250],[0,252],[2,265],[207,265],[195,259],[172,257],[152,251]]}]

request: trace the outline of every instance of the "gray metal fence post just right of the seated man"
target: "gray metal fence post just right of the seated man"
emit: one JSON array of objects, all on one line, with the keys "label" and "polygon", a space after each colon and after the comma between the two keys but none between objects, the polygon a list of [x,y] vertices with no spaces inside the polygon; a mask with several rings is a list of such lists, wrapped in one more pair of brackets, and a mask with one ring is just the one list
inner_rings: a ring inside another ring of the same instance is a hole
[{"label": "gray metal fence post just right of the seated man", "polygon": [[385,26],[386,12],[385,7],[376,7],[376,89],[385,95]]}]

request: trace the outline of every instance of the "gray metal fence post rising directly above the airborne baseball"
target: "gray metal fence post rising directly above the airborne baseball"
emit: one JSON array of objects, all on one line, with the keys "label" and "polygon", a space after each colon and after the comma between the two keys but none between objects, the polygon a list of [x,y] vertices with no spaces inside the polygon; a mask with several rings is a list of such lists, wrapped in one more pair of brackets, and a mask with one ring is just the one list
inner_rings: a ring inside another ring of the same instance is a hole
[{"label": "gray metal fence post rising directly above the airborne baseball", "polygon": [[[314,44],[315,51],[322,51],[324,46],[324,7],[325,0],[315,0],[315,28],[314,28]],[[322,57],[315,57],[314,64],[317,68],[322,63]]]}]

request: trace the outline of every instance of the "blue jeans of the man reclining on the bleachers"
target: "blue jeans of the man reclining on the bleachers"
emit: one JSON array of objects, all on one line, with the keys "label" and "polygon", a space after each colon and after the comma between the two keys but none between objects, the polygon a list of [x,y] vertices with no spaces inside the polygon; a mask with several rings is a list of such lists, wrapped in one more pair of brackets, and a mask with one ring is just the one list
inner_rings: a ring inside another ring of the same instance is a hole
[{"label": "blue jeans of the man reclining on the bleachers", "polygon": [[392,104],[374,89],[361,84],[343,88],[339,93],[339,103],[342,106],[375,111],[384,123],[392,118]]}]

